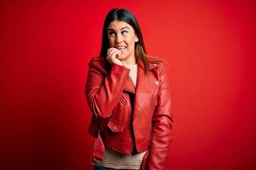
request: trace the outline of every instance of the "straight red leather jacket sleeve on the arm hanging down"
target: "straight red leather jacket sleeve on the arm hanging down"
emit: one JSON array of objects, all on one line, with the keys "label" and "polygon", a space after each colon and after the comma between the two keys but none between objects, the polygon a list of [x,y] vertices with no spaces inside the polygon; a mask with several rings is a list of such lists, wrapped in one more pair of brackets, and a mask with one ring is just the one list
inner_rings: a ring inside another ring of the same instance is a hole
[{"label": "straight red leather jacket sleeve on the arm hanging down", "polygon": [[171,84],[163,66],[159,72],[161,85],[152,117],[152,138],[146,169],[163,170],[172,140],[173,115],[171,111]]}]

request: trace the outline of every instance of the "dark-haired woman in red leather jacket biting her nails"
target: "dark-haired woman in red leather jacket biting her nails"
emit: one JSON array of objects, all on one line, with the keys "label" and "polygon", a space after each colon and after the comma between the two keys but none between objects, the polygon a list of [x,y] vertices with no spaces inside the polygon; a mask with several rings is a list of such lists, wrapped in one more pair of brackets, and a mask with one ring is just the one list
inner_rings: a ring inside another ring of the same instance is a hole
[{"label": "dark-haired woman in red leather jacket biting her nails", "polygon": [[126,9],[110,11],[100,57],[85,86],[97,138],[94,169],[165,169],[171,145],[171,85],[164,62],[146,55],[142,32]]}]

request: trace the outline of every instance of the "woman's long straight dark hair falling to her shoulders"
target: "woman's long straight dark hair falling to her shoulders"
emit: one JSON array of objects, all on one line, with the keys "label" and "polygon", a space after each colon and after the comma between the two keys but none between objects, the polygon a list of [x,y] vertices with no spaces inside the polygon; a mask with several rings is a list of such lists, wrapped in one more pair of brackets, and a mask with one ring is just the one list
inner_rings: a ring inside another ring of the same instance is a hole
[{"label": "woman's long straight dark hair falling to her shoulders", "polygon": [[130,26],[132,26],[132,28],[134,28],[134,32],[139,39],[138,42],[135,42],[135,56],[142,60],[144,64],[144,71],[149,72],[149,63],[146,60],[146,48],[139,23],[134,14],[124,8],[114,8],[109,13],[107,13],[102,30],[102,47],[100,50],[100,56],[107,57],[107,49],[110,48],[110,41],[107,38],[107,27],[112,21],[124,21],[125,23],[128,23]]}]

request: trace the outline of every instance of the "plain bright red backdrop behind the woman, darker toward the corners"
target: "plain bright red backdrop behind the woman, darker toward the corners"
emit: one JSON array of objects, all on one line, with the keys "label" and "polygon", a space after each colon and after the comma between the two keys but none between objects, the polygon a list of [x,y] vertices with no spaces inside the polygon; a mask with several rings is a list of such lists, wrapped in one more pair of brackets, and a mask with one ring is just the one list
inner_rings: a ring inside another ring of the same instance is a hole
[{"label": "plain bright red backdrop behind the woman, darker toward the corners", "polygon": [[255,1],[1,1],[0,169],[92,169],[84,87],[110,9],[171,64],[168,169],[256,169]]}]

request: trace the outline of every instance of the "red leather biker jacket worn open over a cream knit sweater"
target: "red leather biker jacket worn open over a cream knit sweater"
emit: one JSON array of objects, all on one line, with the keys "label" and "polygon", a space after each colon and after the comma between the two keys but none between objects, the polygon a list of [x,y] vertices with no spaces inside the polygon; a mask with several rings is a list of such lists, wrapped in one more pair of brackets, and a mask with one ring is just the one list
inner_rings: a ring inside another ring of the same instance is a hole
[{"label": "red leather biker jacket worn open over a cream knit sweater", "polygon": [[164,169],[169,154],[173,116],[171,84],[164,63],[148,57],[150,71],[138,62],[137,87],[129,69],[110,65],[105,57],[89,63],[85,94],[92,111],[88,132],[123,154],[149,149],[146,169]]}]

